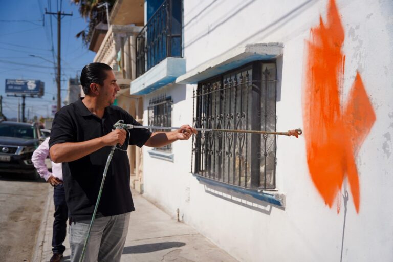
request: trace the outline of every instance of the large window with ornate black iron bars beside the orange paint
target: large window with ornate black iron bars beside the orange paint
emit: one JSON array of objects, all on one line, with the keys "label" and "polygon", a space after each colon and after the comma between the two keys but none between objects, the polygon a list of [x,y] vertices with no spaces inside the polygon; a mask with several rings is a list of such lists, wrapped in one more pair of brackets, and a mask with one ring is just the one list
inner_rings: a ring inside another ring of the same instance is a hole
[{"label": "large window with ornate black iron bars beside the orange paint", "polygon": [[[198,83],[197,128],[276,130],[276,63],[256,61]],[[199,176],[250,189],[274,189],[275,135],[201,132],[193,138]]]}]

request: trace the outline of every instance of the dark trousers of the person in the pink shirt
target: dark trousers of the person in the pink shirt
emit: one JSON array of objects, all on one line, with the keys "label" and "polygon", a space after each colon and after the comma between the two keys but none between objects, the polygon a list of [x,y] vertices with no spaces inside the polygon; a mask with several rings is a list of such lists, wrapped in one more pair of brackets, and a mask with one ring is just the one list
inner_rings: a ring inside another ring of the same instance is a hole
[{"label": "dark trousers of the person in the pink shirt", "polygon": [[55,204],[55,213],[53,214],[55,221],[53,222],[52,251],[53,253],[62,254],[65,250],[65,246],[62,244],[67,234],[68,219],[68,207],[65,204],[63,184],[54,187],[53,201]]}]

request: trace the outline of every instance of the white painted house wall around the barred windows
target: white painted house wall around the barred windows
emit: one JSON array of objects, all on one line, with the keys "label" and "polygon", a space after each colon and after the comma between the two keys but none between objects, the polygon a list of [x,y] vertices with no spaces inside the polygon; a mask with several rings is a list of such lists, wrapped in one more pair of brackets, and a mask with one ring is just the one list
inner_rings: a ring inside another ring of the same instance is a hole
[{"label": "white painted house wall around the barred windows", "polygon": [[[326,21],[329,1],[184,1],[184,55],[187,71],[247,43],[282,42],[284,55],[277,101],[277,130],[302,128],[305,41]],[[343,97],[358,71],[376,114],[356,157],[360,210],[345,180],[330,208],[316,190],[306,160],[304,137],[279,137],[277,189],[286,207],[255,201],[245,207],[206,192],[190,174],[191,141],[173,144],[174,162],[149,157],[144,148],[145,195],[239,261],[393,260],[393,4],[336,0],[345,32]],[[280,69],[278,69],[280,70]],[[280,75],[280,74],[279,74]],[[174,100],[172,126],[192,121],[193,85],[171,85],[161,92]],[[144,114],[147,123],[147,111]],[[350,193],[347,212],[342,194]],[[341,207],[337,212],[337,206]],[[256,210],[255,210],[256,209]],[[342,252],[342,255],[341,255]]]}]

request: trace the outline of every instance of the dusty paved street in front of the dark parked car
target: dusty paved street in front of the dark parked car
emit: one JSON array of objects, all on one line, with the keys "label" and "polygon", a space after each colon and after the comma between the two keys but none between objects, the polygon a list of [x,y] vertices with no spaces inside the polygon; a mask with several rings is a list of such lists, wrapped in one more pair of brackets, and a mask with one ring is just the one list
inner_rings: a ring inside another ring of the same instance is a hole
[{"label": "dusty paved street in front of the dark parked car", "polygon": [[0,173],[0,261],[31,261],[49,184]]}]

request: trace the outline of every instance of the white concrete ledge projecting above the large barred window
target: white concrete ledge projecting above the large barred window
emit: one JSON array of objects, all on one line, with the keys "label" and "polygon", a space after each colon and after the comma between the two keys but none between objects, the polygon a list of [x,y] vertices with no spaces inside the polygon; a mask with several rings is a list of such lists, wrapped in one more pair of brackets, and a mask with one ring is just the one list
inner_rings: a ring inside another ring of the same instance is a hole
[{"label": "white concrete ledge projecting above the large barred window", "polygon": [[257,60],[269,60],[282,54],[282,43],[256,43],[238,47],[179,76],[176,79],[176,83],[195,84],[231,69],[241,67],[246,63]]}]

